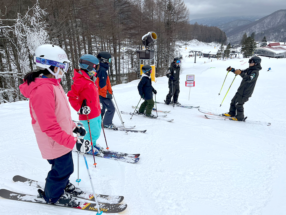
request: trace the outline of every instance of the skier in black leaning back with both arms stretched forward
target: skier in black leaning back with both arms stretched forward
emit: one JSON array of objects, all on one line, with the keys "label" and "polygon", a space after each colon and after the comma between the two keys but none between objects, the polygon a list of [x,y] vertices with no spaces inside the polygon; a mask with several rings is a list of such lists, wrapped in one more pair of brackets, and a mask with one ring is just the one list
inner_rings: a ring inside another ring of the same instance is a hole
[{"label": "skier in black leaning back with both arms stretched forward", "polygon": [[232,120],[243,121],[244,119],[244,111],[243,105],[248,101],[249,97],[251,97],[257,77],[259,75],[259,71],[261,68],[261,58],[258,56],[253,56],[249,59],[249,68],[244,70],[235,70],[234,68],[228,67],[227,71],[231,71],[237,75],[242,77],[241,84],[237,89],[237,93],[231,100],[231,106],[229,108],[229,112],[222,114],[223,116],[231,116]]}]

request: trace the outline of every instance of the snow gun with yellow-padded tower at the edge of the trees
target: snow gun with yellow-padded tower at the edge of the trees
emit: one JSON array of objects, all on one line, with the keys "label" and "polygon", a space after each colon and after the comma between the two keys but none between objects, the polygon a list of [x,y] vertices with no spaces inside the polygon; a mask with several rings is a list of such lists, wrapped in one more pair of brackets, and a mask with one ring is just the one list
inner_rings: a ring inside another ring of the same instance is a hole
[{"label": "snow gun with yellow-padded tower at the edge of the trees", "polygon": [[140,75],[142,75],[142,67],[149,64],[152,67],[151,80],[155,81],[155,61],[154,61],[154,42],[157,40],[155,32],[148,32],[142,37],[142,43],[145,46],[143,50],[137,50],[137,58],[140,60]]}]

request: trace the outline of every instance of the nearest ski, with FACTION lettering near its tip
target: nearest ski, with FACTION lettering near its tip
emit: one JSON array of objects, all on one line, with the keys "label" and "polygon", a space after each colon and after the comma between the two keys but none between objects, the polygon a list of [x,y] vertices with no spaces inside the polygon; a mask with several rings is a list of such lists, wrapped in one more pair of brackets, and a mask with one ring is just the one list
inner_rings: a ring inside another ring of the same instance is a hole
[{"label": "nearest ski, with FACTION lettering near its tip", "polygon": [[[7,189],[0,189],[0,196],[5,199],[16,200],[16,201],[21,201],[21,202],[31,202],[31,203],[44,204],[44,205],[49,205],[49,206],[59,206],[59,207],[65,207],[65,208],[75,208],[75,209],[98,212],[95,203],[82,202],[80,200],[79,200],[80,205],[78,207],[72,207],[72,206],[67,206],[67,205],[62,205],[62,204],[48,204],[42,198],[37,198],[37,196],[17,193],[17,192],[13,192]],[[102,211],[103,213],[119,213],[119,212],[124,211],[127,208],[127,204],[117,205],[117,204],[99,203],[98,205],[99,205],[99,210]]]}]

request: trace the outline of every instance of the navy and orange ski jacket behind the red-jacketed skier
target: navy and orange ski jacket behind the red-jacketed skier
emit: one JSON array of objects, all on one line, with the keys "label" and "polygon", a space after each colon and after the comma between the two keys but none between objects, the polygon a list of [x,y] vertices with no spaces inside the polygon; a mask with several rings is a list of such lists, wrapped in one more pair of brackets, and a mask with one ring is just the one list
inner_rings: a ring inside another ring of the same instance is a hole
[{"label": "navy and orange ski jacket behind the red-jacketed skier", "polygon": [[98,84],[98,94],[102,97],[106,98],[106,92],[108,91],[110,94],[112,94],[112,89],[110,85],[110,79],[107,73],[107,70],[109,68],[109,65],[106,63],[99,63],[100,67],[97,71],[96,75],[96,83]]}]

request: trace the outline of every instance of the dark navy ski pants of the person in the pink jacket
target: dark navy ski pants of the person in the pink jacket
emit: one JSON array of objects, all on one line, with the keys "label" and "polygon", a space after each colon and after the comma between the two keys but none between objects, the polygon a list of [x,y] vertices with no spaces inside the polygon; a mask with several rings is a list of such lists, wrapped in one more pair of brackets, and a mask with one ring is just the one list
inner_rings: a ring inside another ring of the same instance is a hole
[{"label": "dark navy ski pants of the person in the pink jacket", "polygon": [[72,151],[47,161],[52,165],[52,168],[46,178],[44,199],[47,203],[55,203],[63,195],[63,191],[69,183],[69,176],[74,172]]}]

